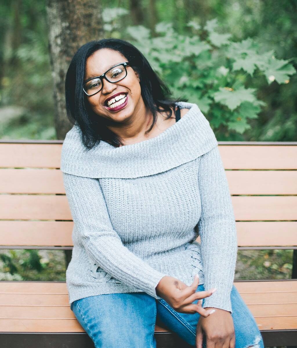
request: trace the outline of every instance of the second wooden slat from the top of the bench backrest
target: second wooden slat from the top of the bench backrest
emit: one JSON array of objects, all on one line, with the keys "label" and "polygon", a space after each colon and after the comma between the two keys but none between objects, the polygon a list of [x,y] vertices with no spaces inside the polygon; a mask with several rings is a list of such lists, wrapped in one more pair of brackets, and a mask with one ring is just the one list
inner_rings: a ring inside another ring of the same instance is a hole
[{"label": "second wooden slat from the top of the bench backrest", "polygon": [[[231,195],[296,195],[297,171],[226,171]],[[0,193],[64,193],[59,169],[0,169]]]}]

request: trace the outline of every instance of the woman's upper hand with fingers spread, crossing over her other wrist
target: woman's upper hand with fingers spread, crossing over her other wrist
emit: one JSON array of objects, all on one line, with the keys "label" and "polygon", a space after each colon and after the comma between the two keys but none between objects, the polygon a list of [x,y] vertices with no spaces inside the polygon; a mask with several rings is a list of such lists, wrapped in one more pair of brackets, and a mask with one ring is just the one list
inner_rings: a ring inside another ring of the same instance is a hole
[{"label": "woman's upper hand with fingers spread, crossing over her other wrist", "polygon": [[189,286],[177,278],[164,276],[156,286],[156,294],[162,297],[177,312],[199,313],[206,318],[214,313],[215,310],[202,308],[202,301],[198,301],[197,304],[192,302],[209,297],[216,289],[196,292],[198,284],[198,275],[195,275],[194,282]]}]

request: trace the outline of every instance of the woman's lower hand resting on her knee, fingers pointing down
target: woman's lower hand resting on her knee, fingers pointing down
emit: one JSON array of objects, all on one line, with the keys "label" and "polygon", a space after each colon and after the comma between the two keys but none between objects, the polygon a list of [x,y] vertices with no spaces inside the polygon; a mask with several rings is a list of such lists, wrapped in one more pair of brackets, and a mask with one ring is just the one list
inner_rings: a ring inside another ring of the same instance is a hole
[{"label": "woman's lower hand resting on her knee, fingers pointing down", "polygon": [[[205,307],[211,308],[211,307]],[[229,311],[216,308],[210,318],[200,317],[196,328],[196,348],[202,348],[203,333],[207,348],[235,348],[233,318]]]}]

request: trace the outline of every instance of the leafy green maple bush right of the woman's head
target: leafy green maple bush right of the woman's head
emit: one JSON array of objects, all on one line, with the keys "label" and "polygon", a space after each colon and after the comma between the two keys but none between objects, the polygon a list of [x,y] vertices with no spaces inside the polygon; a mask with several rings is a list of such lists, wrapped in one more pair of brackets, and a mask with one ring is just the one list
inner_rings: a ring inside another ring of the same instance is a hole
[{"label": "leafy green maple bush right of the woman's head", "polygon": [[194,21],[188,26],[194,32],[190,36],[178,34],[164,22],[156,25],[157,37],[142,26],[129,26],[126,32],[169,82],[174,96],[197,103],[213,128],[224,126],[229,133],[243,134],[251,128],[249,119],[257,118],[266,105],[257,97],[257,79],[265,76],[268,84],[274,80],[284,84],[295,68],[290,60],[276,59],[273,50],[259,53],[259,44],[251,38],[232,42],[231,34],[217,32],[216,19],[203,29]]}]

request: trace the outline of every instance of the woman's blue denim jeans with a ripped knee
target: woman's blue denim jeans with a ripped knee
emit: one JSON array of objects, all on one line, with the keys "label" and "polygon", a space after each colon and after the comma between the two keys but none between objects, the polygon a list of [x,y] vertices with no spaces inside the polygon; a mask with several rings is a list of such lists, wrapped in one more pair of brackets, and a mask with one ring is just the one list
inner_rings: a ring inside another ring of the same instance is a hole
[{"label": "woman's blue denim jeans with a ripped knee", "polygon": [[[204,291],[203,284],[198,285],[197,291]],[[230,299],[235,348],[264,348],[257,323],[234,285]],[[195,347],[200,314],[179,313],[165,300],[145,292],[89,296],[72,302],[71,310],[96,348],[156,348],[156,317]],[[206,348],[205,336],[203,347]]]}]

